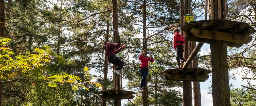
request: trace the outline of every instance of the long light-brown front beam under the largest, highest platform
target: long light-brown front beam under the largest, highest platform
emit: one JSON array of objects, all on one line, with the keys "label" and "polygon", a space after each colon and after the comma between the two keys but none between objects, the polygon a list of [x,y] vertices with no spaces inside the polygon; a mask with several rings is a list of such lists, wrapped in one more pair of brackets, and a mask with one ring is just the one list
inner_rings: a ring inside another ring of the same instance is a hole
[{"label": "long light-brown front beam under the largest, highest platform", "polygon": [[207,39],[214,39],[214,40],[222,40],[234,43],[249,43],[252,40],[252,36],[248,35],[239,35],[225,33],[225,32],[218,32],[218,31],[209,31],[209,30],[200,30],[200,29],[191,29],[191,33],[194,37],[199,38],[207,38]]}]

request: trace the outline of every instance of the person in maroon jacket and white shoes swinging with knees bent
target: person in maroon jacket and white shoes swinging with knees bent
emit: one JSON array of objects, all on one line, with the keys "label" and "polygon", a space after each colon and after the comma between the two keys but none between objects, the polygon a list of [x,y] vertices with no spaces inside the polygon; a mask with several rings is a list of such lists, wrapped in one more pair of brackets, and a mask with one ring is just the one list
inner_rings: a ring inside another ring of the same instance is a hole
[{"label": "person in maroon jacket and white shoes swinging with knees bent", "polygon": [[[105,40],[104,43],[109,43],[109,44],[104,44],[103,49],[106,51],[106,54],[108,55],[108,61],[114,65],[117,66],[117,68],[113,71],[113,73],[116,76],[121,76],[120,70],[124,67],[124,62],[120,60],[118,57],[115,56],[115,54],[119,53],[123,48],[125,48],[125,43],[121,44],[111,44],[109,40]],[[118,47],[120,45],[123,45],[117,50],[114,50],[115,47]],[[103,55],[103,50],[102,50],[102,55]]]}]

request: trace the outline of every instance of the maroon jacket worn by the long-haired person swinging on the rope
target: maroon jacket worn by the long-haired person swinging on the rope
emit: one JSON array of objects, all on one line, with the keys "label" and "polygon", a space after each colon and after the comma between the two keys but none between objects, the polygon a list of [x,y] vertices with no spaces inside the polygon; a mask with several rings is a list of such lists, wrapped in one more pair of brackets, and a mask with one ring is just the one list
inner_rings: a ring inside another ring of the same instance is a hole
[{"label": "maroon jacket worn by the long-haired person swinging on the rope", "polygon": [[118,47],[118,46],[120,46],[120,44],[115,44],[115,45],[113,45],[113,44],[106,44],[104,49],[106,50],[106,54],[108,55],[108,58],[111,55],[119,53],[123,49],[122,47],[120,47],[119,49],[114,50],[114,48]]}]

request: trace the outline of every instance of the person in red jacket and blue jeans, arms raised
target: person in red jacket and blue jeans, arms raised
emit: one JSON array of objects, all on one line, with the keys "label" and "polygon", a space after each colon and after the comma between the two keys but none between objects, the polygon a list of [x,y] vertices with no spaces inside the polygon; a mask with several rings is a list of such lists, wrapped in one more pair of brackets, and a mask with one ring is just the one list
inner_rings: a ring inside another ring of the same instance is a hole
[{"label": "person in red jacket and blue jeans, arms raised", "polygon": [[146,77],[148,74],[148,61],[150,62],[154,62],[154,59],[152,57],[152,55],[150,57],[148,57],[147,55],[147,51],[146,49],[144,49],[141,52],[141,55],[139,56],[139,59],[141,60],[141,65],[140,65],[140,72],[142,75],[142,80],[141,80],[141,89],[147,88],[146,86]]}]

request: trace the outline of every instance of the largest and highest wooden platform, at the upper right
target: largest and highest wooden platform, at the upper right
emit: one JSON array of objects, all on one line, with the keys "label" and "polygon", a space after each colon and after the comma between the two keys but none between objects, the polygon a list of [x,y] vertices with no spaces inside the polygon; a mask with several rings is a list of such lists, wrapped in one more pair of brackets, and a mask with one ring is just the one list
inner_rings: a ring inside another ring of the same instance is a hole
[{"label": "largest and highest wooden platform, at the upper right", "polygon": [[210,43],[226,41],[227,46],[241,47],[252,40],[255,30],[248,23],[223,19],[191,21],[180,28],[188,41]]}]

